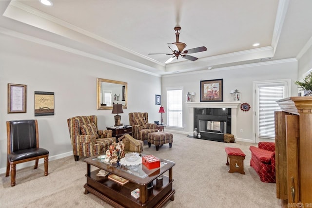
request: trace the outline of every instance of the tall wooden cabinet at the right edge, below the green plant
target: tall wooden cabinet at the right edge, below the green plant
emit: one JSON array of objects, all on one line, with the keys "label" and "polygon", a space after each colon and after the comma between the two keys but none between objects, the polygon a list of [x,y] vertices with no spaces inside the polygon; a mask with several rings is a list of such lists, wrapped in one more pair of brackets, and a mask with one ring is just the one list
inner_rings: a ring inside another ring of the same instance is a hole
[{"label": "tall wooden cabinet at the right edge, below the green plant", "polygon": [[312,207],[312,97],[277,101],[275,112],[276,196]]}]

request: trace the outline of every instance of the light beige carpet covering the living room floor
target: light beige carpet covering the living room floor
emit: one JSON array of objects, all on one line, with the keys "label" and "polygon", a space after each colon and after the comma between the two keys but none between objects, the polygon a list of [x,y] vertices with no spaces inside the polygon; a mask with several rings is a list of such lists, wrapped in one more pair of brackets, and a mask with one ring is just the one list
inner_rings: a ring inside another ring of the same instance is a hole
[{"label": "light beige carpet covering the living room floor", "polygon": [[[249,166],[250,143],[221,143],[193,139],[174,133],[172,148],[165,144],[144,144],[143,153],[176,162],[173,168],[175,200],[166,208],[280,208],[275,184],[263,183]],[[228,173],[225,147],[238,147],[246,154],[245,175]],[[49,162],[49,175],[44,176],[43,164],[18,169],[16,186],[10,177],[0,175],[1,208],[111,208],[91,193],[84,194],[86,163],[74,156]]]}]

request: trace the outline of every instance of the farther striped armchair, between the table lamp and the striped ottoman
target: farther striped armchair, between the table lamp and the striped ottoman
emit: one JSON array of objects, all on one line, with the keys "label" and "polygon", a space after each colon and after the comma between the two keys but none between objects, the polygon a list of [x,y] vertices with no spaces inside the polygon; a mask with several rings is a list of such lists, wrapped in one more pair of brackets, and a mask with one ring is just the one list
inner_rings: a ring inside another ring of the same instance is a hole
[{"label": "farther striped armchair, between the table lamp and the striped ottoman", "polygon": [[148,122],[148,113],[129,113],[129,125],[132,136],[137,140],[147,140],[147,134],[158,132],[157,125]]}]

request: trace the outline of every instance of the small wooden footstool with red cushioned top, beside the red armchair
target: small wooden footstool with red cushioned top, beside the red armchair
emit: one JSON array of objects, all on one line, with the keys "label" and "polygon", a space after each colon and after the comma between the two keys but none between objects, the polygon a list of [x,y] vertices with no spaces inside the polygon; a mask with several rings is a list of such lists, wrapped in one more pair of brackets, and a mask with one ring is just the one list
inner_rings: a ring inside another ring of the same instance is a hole
[{"label": "small wooden footstool with red cushioned top, beside the red armchair", "polygon": [[239,172],[245,174],[244,172],[244,160],[246,154],[239,148],[226,147],[226,165],[230,165],[229,172]]}]

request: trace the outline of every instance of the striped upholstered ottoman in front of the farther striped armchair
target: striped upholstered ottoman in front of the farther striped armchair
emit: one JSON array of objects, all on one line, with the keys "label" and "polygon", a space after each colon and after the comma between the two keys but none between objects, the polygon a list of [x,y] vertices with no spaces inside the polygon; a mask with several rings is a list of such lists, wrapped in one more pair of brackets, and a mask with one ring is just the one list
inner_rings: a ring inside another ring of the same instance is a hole
[{"label": "striped upholstered ottoman in front of the farther striped armchair", "polygon": [[147,134],[148,147],[151,147],[151,144],[156,145],[156,151],[159,150],[159,145],[169,143],[169,147],[172,147],[173,135],[168,132],[152,132]]}]

